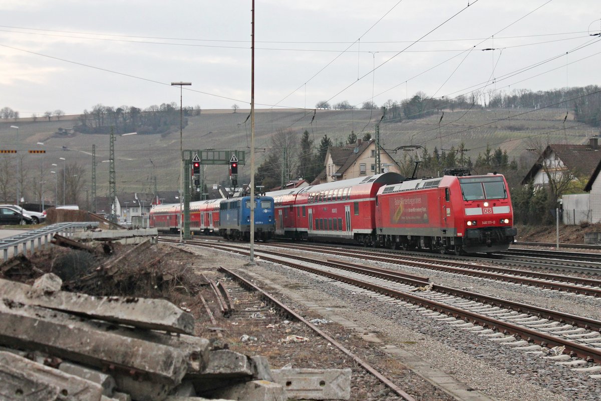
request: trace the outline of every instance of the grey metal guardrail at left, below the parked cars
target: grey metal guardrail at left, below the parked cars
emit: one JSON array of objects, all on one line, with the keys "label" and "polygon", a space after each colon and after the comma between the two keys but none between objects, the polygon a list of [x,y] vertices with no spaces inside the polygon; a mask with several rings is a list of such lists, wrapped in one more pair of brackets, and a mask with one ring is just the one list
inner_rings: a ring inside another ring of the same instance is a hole
[{"label": "grey metal guardrail at left, below the parked cars", "polygon": [[[35,252],[35,248],[44,248],[49,243],[49,237],[55,233],[59,233],[67,238],[73,237],[73,232],[76,228],[98,227],[97,221],[86,222],[65,222],[48,225],[46,227],[37,228],[36,230],[25,231],[12,237],[0,239],[0,250],[4,254],[4,262],[8,260],[8,251],[13,249],[11,257],[18,254],[27,254],[28,249],[31,253]],[[43,243],[42,243],[43,239]],[[29,244],[29,247],[28,247]]]}]

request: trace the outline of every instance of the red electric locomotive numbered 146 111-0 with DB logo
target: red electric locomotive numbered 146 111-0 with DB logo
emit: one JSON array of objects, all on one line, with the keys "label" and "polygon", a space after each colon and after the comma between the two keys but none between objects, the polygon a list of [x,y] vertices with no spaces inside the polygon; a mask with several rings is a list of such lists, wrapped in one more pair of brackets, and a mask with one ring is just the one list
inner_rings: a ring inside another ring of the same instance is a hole
[{"label": "red electric locomotive numbered 146 111-0 with DB logo", "polygon": [[378,242],[390,248],[447,253],[507,250],[516,236],[505,177],[443,176],[380,188]]}]

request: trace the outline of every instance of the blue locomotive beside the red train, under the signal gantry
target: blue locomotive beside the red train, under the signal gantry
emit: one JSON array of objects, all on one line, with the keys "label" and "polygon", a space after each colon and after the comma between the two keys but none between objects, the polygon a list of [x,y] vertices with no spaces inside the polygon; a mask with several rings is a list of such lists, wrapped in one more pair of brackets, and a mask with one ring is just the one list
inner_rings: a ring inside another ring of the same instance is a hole
[{"label": "blue locomotive beside the red train, under the signal gantry", "polygon": [[[255,239],[266,241],[275,233],[272,197],[255,197]],[[251,197],[222,200],[219,204],[219,234],[227,239],[251,238]]]}]

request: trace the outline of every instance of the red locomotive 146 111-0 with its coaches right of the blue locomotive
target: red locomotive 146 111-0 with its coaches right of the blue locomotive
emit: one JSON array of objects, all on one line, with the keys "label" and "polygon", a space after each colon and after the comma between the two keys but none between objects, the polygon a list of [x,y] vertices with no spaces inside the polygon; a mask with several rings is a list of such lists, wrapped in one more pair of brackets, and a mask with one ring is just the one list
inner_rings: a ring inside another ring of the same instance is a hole
[{"label": "red locomotive 146 111-0 with its coaches right of the blue locomotive", "polygon": [[275,234],[296,240],[473,254],[517,234],[502,174],[404,179],[397,173],[267,192]]}]

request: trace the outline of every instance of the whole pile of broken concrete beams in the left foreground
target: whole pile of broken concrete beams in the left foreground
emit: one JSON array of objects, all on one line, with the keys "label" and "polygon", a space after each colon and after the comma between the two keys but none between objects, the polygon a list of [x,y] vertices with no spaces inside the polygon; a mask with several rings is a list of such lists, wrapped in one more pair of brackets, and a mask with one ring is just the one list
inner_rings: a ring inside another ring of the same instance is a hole
[{"label": "whole pile of broken concrete beams in the left foreground", "polygon": [[[194,337],[194,317],[171,302],[61,285],[53,274],[33,286],[0,280],[0,399],[285,400],[303,396],[302,380],[314,381],[290,370],[299,386],[287,394],[273,381],[289,384],[287,370],[272,376],[264,357],[211,349]],[[340,371],[334,384],[343,391],[332,396],[348,399],[350,369]],[[323,390],[323,380],[314,386]]]}]

